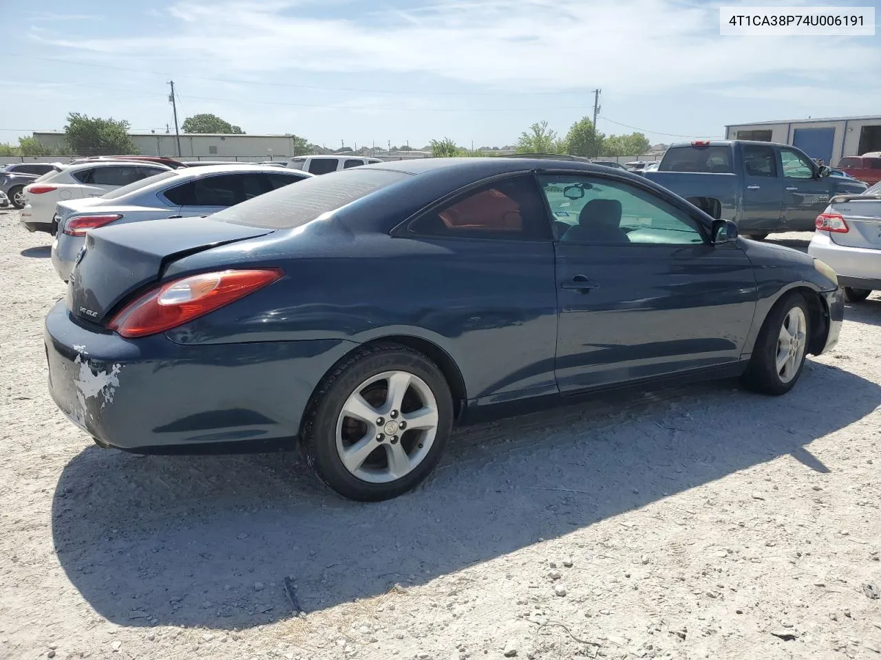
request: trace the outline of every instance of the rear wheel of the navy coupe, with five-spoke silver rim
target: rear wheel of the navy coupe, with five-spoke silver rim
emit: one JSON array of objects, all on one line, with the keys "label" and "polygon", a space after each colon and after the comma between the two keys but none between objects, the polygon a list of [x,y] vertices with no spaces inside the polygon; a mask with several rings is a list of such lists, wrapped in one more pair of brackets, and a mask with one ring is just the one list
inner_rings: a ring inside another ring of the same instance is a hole
[{"label": "rear wheel of the navy coupe, with five-spoke silver rim", "polygon": [[441,458],[453,400],[441,370],[411,348],[363,348],[319,385],[303,424],[306,460],[359,502],[415,488]]}]

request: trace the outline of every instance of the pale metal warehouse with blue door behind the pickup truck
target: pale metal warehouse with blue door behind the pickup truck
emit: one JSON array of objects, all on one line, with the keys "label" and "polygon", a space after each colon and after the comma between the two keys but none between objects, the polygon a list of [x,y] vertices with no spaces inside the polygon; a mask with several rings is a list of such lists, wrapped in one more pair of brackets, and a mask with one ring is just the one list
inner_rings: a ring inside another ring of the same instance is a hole
[{"label": "pale metal warehouse with blue door behind the pickup truck", "polygon": [[881,117],[834,117],[793,121],[762,121],[725,127],[729,140],[792,144],[826,165],[845,156],[881,151]]}]

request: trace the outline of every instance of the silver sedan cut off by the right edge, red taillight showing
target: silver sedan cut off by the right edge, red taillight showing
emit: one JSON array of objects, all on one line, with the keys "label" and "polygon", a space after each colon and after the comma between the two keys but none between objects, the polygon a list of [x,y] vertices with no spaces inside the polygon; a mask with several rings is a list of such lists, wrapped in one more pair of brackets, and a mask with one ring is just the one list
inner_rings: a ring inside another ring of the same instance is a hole
[{"label": "silver sedan cut off by the right edge, red taillight showing", "polygon": [[881,182],[864,194],[833,197],[817,217],[808,254],[834,268],[851,303],[881,290]]}]

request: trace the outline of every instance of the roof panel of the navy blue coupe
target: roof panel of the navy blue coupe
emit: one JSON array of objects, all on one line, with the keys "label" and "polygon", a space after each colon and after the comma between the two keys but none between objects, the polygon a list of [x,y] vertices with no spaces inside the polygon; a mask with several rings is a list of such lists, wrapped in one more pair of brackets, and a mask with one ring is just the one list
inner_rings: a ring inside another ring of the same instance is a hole
[{"label": "roof panel of the navy blue coupe", "polygon": [[370,163],[365,168],[389,170],[406,174],[421,174],[437,170],[449,172],[470,172],[472,175],[485,178],[506,172],[522,172],[524,170],[585,170],[587,172],[608,172],[603,165],[594,165],[581,160],[565,158],[505,158],[491,156],[486,158],[412,158],[410,160],[390,160],[384,163]]}]

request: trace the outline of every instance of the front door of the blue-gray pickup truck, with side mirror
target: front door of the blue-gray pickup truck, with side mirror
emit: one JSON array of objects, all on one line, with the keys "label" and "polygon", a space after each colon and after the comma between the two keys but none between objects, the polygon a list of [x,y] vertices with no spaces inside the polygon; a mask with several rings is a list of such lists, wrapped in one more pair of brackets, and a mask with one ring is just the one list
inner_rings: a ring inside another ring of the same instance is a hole
[{"label": "front door of the blue-gray pickup truck, with side mirror", "polygon": [[813,231],[814,221],[829,204],[829,177],[818,178],[816,165],[801,151],[780,148],[783,216],[788,231]]}]

